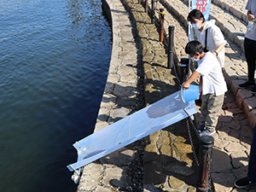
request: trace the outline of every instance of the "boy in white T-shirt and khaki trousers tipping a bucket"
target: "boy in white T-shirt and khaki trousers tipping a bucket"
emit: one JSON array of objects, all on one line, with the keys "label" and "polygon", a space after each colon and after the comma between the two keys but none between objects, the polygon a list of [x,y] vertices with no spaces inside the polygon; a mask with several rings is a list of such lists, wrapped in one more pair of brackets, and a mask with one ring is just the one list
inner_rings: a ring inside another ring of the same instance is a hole
[{"label": "boy in white T-shirt and khaki trousers tipping a bucket", "polygon": [[201,117],[198,131],[200,136],[210,136],[216,132],[218,114],[224,102],[227,85],[218,59],[210,51],[205,53],[199,41],[189,42],[185,47],[185,52],[193,61],[197,61],[198,67],[183,84],[183,90],[189,89],[189,84],[201,76],[199,84],[202,90]]}]

